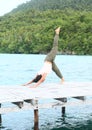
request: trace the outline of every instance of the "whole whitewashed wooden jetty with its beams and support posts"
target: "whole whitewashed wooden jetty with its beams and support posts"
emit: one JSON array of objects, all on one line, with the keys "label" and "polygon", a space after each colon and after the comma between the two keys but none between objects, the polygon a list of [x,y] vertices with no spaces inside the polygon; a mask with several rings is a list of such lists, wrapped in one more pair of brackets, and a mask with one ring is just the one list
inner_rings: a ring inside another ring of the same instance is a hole
[{"label": "whole whitewashed wooden jetty with its beams and support posts", "polygon": [[[38,130],[39,109],[61,107],[62,115],[64,115],[66,106],[91,105],[91,96],[92,82],[49,83],[41,84],[37,88],[13,85],[0,86],[0,124],[2,123],[1,114],[33,109],[34,130]],[[70,100],[70,98],[75,100]],[[53,101],[48,102],[49,99],[53,99]],[[47,100],[47,102],[39,103],[39,100]],[[14,105],[3,107],[2,104],[8,103]]]}]

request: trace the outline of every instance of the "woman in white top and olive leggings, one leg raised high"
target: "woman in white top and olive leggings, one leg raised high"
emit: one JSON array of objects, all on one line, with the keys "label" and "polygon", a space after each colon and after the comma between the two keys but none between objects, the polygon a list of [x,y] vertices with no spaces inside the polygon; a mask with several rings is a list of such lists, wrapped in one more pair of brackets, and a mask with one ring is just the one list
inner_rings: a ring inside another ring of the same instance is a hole
[{"label": "woman in white top and olive leggings, one leg raised high", "polygon": [[35,83],[34,86],[32,86],[32,87],[37,87],[46,79],[46,76],[51,72],[51,70],[53,70],[56,73],[56,75],[61,79],[62,82],[64,81],[64,78],[63,78],[60,70],[58,69],[58,67],[56,66],[56,64],[54,62],[57,51],[58,51],[59,33],[60,33],[60,27],[58,27],[55,30],[53,47],[52,47],[51,51],[48,53],[48,55],[46,56],[42,69],[37,73],[36,77],[33,80],[24,84],[24,86]]}]

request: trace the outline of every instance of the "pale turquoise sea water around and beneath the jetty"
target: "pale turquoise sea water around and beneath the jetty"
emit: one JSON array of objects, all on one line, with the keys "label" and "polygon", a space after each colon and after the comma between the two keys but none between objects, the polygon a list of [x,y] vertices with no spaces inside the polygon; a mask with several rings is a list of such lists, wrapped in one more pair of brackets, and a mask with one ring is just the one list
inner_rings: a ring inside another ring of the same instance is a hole
[{"label": "pale turquoise sea water around and beneath the jetty", "polygon": [[[0,54],[0,85],[20,85],[29,81],[42,67],[45,55]],[[58,55],[55,62],[66,81],[92,81],[92,56]],[[59,82],[52,72],[45,83]],[[0,130],[33,130],[33,111],[2,115]],[[39,110],[40,130],[92,130],[92,106],[67,107],[66,116],[61,109]]]}]

